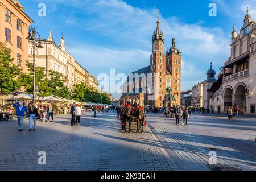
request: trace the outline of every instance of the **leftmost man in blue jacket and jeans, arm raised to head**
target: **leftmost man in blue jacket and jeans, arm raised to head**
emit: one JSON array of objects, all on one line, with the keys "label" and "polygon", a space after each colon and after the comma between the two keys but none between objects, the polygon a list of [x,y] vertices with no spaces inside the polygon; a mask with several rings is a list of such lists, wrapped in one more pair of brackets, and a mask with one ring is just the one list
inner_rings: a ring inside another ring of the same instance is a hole
[{"label": "leftmost man in blue jacket and jeans, arm raised to head", "polygon": [[23,129],[23,121],[24,121],[25,112],[26,112],[27,117],[29,116],[27,107],[24,106],[21,101],[16,102],[15,104],[13,104],[13,106],[16,108],[16,115],[17,115],[17,119],[18,119],[19,131],[23,131],[24,130]]}]

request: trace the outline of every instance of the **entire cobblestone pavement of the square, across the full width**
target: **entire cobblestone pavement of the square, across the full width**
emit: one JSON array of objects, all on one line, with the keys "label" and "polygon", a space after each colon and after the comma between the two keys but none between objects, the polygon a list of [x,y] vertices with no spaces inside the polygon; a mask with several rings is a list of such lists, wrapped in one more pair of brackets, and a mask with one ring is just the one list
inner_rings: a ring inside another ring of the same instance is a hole
[{"label": "entire cobblestone pavement of the square, across the full width", "polygon": [[[256,121],[195,115],[188,125],[148,114],[144,133],[123,133],[113,113],[82,116],[70,126],[70,115],[38,122],[36,131],[18,131],[18,123],[0,123],[0,170],[210,170],[256,169]],[[46,165],[38,152],[46,152]],[[209,151],[217,165],[209,165]],[[214,168],[215,167],[215,168]]]}]

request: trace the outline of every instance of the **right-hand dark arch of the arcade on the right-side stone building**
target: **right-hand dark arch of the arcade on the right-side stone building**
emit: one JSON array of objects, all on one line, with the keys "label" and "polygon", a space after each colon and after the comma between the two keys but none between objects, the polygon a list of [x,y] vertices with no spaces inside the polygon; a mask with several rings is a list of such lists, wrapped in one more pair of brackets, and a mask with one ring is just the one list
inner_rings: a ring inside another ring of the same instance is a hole
[{"label": "right-hand dark arch of the arcade on the right-side stone building", "polygon": [[234,105],[240,108],[240,113],[245,114],[246,109],[246,88],[243,84],[238,85],[234,91]]}]

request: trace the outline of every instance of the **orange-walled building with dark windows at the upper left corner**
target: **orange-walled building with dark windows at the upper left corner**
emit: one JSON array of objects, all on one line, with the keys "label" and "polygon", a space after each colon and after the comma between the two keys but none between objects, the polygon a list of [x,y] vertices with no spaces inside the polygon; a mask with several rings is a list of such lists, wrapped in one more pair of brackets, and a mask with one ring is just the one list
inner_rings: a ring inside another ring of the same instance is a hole
[{"label": "orange-walled building with dark windows at the upper left corner", "polygon": [[13,63],[27,72],[28,27],[33,20],[25,13],[22,5],[14,0],[0,1],[0,42],[5,42],[11,51]]}]

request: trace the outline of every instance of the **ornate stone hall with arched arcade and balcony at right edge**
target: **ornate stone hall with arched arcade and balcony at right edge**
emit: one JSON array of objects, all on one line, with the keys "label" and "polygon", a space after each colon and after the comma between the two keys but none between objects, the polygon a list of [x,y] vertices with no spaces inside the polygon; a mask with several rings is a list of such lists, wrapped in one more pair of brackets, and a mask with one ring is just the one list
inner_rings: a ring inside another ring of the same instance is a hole
[{"label": "ornate stone hall with arched arcade and balcony at right edge", "polygon": [[231,55],[222,67],[210,106],[226,113],[229,106],[240,107],[240,112],[255,115],[256,105],[256,26],[249,10],[240,31],[233,27]]}]

